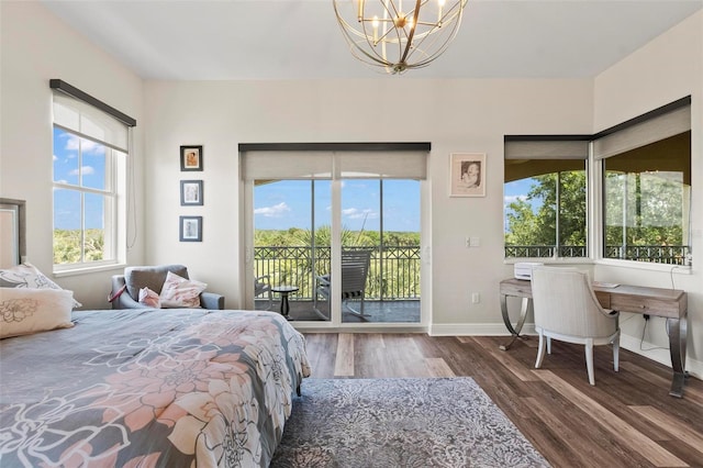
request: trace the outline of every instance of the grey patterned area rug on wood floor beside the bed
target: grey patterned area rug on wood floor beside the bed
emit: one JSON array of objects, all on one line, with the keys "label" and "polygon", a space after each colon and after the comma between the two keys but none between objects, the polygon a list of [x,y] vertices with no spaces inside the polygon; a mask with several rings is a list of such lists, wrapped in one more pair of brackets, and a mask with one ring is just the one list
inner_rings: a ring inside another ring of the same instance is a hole
[{"label": "grey patterned area rug on wood floor beside the bed", "polygon": [[548,467],[468,377],[305,379],[271,467]]}]

